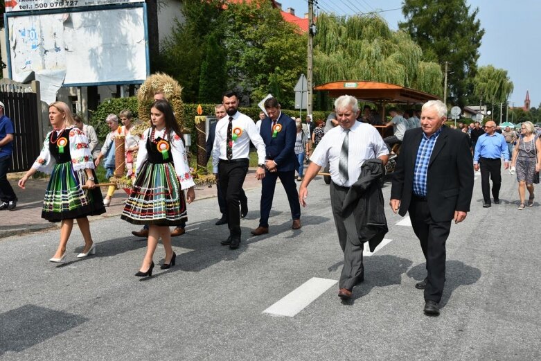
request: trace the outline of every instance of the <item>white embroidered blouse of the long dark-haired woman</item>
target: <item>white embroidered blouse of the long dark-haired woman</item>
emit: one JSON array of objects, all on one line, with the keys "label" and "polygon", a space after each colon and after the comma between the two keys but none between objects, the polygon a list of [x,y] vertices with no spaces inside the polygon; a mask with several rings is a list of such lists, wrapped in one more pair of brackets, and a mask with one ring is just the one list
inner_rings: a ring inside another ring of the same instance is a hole
[{"label": "white embroidered blouse of the long dark-haired woman", "polygon": [[[146,143],[148,137],[150,137],[150,131],[148,128],[143,132],[143,138],[139,141],[139,153],[137,154],[137,161],[135,166],[135,174],[138,175],[141,171],[143,163],[148,159],[148,150]],[[154,139],[161,138],[166,139],[170,143],[170,152],[172,155],[173,164],[175,166],[175,172],[179,177],[180,186],[182,189],[187,189],[195,186],[192,175],[190,174],[190,166],[188,166],[188,157],[186,157],[186,149],[182,143],[182,139],[175,133],[165,135],[165,128],[162,130],[154,130]]]}]

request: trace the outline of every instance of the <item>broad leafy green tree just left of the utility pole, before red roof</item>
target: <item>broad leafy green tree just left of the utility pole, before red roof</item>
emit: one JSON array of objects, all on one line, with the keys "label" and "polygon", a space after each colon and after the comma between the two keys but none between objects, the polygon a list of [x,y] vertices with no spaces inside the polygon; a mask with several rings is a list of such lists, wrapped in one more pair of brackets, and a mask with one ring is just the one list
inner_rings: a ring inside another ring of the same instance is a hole
[{"label": "broad leafy green tree just left of the utility pole, before red roof", "polygon": [[267,0],[230,3],[224,16],[229,87],[254,101],[271,92],[283,107],[292,106],[293,88],[306,69],[306,35]]}]

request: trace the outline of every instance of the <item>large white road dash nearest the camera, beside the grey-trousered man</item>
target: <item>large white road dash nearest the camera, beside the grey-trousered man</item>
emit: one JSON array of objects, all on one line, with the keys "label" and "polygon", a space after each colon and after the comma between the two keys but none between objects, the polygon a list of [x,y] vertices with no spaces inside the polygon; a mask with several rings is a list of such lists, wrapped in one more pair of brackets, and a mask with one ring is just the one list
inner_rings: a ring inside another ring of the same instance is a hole
[{"label": "large white road dash nearest the camera, beside the grey-trousered man", "polygon": [[294,315],[301,312],[301,310],[337,282],[338,281],[334,279],[320,279],[313,277],[300,285],[299,288],[296,288],[296,290],[287,294],[283,299],[264,310],[263,313],[294,317]]}]

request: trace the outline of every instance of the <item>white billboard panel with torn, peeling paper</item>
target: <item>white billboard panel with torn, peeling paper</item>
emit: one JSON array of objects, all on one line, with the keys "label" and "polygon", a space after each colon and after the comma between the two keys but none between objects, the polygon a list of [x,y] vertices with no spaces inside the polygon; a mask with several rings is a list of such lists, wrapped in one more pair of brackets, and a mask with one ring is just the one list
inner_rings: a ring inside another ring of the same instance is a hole
[{"label": "white billboard panel with torn, peeling paper", "polygon": [[6,19],[13,80],[34,72],[37,80],[53,76],[67,87],[143,82],[148,76],[143,4]]}]

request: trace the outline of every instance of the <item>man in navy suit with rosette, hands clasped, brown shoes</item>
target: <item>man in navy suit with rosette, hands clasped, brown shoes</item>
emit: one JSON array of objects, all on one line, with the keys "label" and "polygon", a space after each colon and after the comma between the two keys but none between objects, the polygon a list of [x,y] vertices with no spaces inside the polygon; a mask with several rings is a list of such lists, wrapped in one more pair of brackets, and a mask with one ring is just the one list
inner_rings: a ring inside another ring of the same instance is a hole
[{"label": "man in navy suit with rosette, hands clasped, brown shoes", "polygon": [[301,228],[301,205],[296,190],[295,170],[299,160],[295,155],[296,125],[292,118],[283,114],[276,98],[265,100],[268,116],[261,121],[259,134],[265,142],[265,178],[261,188],[261,218],[259,227],[251,231],[254,236],[269,233],[269,214],[274,198],[276,179],[280,178],[287,200],[290,202],[292,229]]}]

